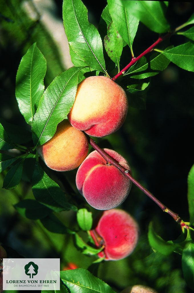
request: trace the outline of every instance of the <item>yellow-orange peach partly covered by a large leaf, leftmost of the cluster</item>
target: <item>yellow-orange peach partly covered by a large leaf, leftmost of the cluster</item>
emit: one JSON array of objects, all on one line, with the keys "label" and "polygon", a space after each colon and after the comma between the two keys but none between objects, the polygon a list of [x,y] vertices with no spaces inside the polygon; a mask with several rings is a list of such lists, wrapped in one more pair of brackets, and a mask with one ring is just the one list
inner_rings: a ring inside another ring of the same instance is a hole
[{"label": "yellow-orange peach partly covered by a large leaf, leftmost of the cluster", "polygon": [[69,171],[79,167],[86,158],[88,140],[83,132],[72,127],[68,120],[63,120],[54,136],[37,150],[49,168]]}]

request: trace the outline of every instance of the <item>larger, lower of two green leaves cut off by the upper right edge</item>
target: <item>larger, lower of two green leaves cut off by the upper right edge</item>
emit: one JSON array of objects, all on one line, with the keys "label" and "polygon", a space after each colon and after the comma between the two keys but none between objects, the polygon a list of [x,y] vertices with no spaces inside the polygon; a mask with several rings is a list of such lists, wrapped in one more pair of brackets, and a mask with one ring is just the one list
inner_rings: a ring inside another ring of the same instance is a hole
[{"label": "larger, lower of two green leaves cut off by the upper right edge", "polygon": [[194,72],[194,45],[191,42],[161,53],[182,69]]}]

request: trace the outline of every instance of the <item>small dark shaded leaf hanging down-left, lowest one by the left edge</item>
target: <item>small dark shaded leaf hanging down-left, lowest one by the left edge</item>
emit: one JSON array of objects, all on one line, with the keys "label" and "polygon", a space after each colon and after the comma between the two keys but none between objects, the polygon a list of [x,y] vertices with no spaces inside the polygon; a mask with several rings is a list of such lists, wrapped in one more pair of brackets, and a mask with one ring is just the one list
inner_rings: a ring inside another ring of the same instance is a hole
[{"label": "small dark shaded leaf hanging down-left, lowest one by the left edge", "polygon": [[18,186],[22,178],[24,159],[21,159],[19,163],[15,164],[6,174],[3,182],[3,188],[13,189]]}]

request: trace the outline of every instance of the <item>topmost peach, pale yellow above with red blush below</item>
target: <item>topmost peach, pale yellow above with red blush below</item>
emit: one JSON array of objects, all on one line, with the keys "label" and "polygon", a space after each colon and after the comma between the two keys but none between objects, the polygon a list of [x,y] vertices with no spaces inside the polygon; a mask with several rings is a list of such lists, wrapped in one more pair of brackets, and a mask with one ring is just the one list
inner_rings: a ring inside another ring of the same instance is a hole
[{"label": "topmost peach, pale yellow above with red blush below", "polygon": [[127,96],[118,84],[105,76],[90,76],[78,85],[68,119],[75,128],[103,137],[122,126],[127,110]]}]

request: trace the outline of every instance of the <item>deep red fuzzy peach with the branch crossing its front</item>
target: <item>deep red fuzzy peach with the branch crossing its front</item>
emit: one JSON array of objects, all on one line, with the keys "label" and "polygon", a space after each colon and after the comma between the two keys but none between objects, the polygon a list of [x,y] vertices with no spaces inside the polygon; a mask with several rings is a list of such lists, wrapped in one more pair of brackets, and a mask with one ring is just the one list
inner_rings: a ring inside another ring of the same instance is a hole
[{"label": "deep red fuzzy peach with the branch crossing its front", "polygon": [[[116,151],[104,151],[130,171],[127,161]],[[131,180],[115,166],[107,164],[97,151],[91,152],[79,167],[76,185],[89,205],[101,210],[119,206],[131,190]]]}]

